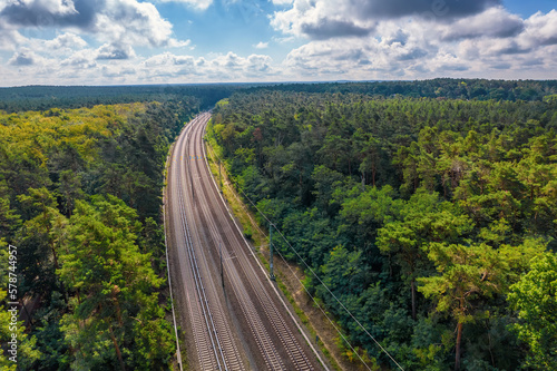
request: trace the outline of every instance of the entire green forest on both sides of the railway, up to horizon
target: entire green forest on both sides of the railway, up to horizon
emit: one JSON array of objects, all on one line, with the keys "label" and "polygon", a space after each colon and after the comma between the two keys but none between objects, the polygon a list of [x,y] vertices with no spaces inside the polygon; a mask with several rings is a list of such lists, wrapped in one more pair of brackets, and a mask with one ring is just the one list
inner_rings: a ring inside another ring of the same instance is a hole
[{"label": "entire green forest on both sides of the railway, up to horizon", "polygon": [[460,79],[0,89],[19,369],[172,369],[164,165],[212,107],[236,187],[378,369],[332,294],[405,370],[557,369],[557,81]]}]

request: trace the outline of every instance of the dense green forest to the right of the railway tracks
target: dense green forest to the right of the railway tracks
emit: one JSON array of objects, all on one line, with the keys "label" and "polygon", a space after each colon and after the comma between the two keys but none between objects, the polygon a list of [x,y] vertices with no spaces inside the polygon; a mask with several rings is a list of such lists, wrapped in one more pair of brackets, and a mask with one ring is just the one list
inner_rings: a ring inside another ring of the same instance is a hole
[{"label": "dense green forest to the right of the railway tracks", "polygon": [[[405,370],[549,370],[555,89],[444,79],[256,88],[215,107],[208,137],[236,186]],[[350,340],[394,368],[306,273]]]}]

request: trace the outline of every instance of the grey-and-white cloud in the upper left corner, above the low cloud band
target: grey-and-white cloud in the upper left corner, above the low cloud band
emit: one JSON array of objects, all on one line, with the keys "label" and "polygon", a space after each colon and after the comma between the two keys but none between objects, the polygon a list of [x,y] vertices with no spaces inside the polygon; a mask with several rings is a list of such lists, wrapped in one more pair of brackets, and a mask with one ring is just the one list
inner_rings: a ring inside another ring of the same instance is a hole
[{"label": "grey-and-white cloud in the upper left corner, above the low cloud band", "polygon": [[[101,55],[107,59],[134,56],[136,46],[183,47],[173,38],[173,26],[163,19],[153,3],[137,0],[8,0],[0,6],[0,48],[17,49],[37,43],[21,33],[27,30],[62,31],[52,47],[84,47],[80,35],[98,43],[108,43]],[[78,40],[79,38],[79,40]]]}]

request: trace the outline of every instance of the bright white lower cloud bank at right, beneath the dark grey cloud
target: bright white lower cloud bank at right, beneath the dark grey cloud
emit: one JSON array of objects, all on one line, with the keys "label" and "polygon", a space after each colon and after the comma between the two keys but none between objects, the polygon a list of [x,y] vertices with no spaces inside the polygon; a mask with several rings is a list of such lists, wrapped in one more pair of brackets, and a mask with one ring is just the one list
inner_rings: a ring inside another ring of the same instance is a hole
[{"label": "bright white lower cloud bank at right, beneath the dark grey cloud", "polygon": [[494,7],[451,25],[382,20],[369,36],[311,40],[284,65],[307,79],[557,78],[556,60],[557,11],[522,20]]}]

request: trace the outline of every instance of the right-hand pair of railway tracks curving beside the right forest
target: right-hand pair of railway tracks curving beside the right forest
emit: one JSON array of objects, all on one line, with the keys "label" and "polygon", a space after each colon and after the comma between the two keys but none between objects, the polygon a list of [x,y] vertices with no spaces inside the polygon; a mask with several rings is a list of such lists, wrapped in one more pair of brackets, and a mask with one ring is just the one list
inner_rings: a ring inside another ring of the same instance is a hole
[{"label": "right-hand pair of railway tracks curving beside the right forest", "polygon": [[[208,120],[208,118],[207,118]],[[195,192],[196,228],[205,231],[205,242],[213,262],[218,258],[222,244],[225,276],[234,294],[235,307],[240,306],[240,321],[252,344],[257,344],[255,369],[315,370],[315,360],[307,343],[302,339],[291,318],[284,316],[285,306],[277,297],[271,282],[256,264],[253,254],[240,234],[215,186],[206,166],[203,134],[207,120],[193,123],[190,143],[192,186]],[[254,352],[255,353],[255,352]]]}]

